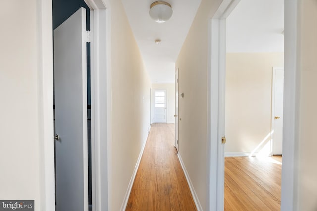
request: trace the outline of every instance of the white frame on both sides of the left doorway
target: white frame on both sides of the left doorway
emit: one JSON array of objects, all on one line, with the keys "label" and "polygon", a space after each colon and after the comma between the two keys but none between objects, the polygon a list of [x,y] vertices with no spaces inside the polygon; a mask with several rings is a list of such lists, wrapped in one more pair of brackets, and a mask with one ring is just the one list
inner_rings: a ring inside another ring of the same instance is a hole
[{"label": "white frame on both sides of the left doorway", "polygon": [[[85,0],[91,9],[91,112],[93,210],[108,210],[108,142],[111,98],[111,10],[108,0]],[[39,140],[41,210],[55,210],[53,145],[52,0],[36,0],[38,20]],[[107,7],[106,7],[107,5]],[[106,60],[104,59],[106,58]],[[106,83],[105,83],[106,82]],[[103,109],[101,109],[103,108]],[[101,129],[103,128],[103,129]]]}]

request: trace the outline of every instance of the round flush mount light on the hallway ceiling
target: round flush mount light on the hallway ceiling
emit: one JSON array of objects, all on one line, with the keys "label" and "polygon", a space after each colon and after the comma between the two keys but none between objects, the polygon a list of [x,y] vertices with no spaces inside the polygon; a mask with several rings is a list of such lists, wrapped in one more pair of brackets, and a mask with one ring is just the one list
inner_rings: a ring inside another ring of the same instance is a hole
[{"label": "round flush mount light on the hallway ceiling", "polygon": [[169,20],[173,14],[172,6],[165,1],[155,1],[150,6],[150,16],[158,23],[164,23]]}]

